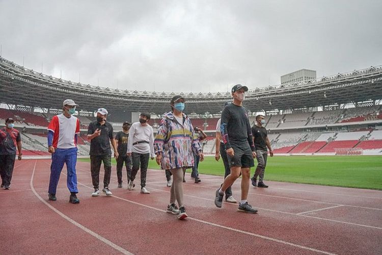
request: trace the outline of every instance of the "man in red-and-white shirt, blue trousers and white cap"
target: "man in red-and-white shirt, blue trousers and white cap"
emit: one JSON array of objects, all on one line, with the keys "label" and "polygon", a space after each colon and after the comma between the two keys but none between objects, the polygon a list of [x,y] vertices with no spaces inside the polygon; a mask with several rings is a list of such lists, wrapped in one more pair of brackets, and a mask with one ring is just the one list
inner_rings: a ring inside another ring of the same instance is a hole
[{"label": "man in red-and-white shirt, blue trousers and white cap", "polygon": [[63,113],[52,118],[48,125],[48,151],[52,155],[48,199],[56,201],[56,190],[64,163],[67,168],[66,185],[70,191],[69,202],[79,203],[77,198],[77,139],[79,120],[72,116],[78,106],[72,99],[63,103]]}]

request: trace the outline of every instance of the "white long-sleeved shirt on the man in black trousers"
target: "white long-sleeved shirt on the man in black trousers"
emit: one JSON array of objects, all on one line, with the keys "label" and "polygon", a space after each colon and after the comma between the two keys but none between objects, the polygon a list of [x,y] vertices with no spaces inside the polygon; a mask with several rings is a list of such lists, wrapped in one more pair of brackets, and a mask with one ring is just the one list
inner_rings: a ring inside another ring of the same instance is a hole
[{"label": "white long-sleeved shirt on the man in black trousers", "polygon": [[[148,143],[138,143],[132,145],[135,142],[142,141],[146,141]],[[141,122],[132,123],[129,130],[129,139],[127,141],[127,152],[135,152],[140,154],[150,153],[152,158],[155,157],[154,131],[149,124],[143,126]]]}]

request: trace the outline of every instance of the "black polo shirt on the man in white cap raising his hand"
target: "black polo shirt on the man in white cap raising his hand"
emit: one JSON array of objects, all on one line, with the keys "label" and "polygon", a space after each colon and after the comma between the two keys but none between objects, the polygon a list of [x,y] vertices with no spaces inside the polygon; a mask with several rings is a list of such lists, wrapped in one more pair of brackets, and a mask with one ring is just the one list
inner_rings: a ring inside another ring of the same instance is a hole
[{"label": "black polo shirt on the man in white cap raising his hand", "polygon": [[101,134],[91,140],[89,155],[112,155],[110,147],[110,139],[113,139],[112,124],[105,122],[101,125],[97,121],[93,121],[89,124],[88,135],[93,135],[97,129],[101,131]]}]

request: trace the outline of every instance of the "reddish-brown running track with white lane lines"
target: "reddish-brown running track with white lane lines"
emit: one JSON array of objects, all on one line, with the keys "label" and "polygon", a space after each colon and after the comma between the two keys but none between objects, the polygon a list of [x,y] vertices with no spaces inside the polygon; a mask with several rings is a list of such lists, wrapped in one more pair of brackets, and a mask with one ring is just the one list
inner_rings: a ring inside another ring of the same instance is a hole
[{"label": "reddish-brown running track with white lane lines", "polygon": [[[49,160],[17,161],[11,190],[0,190],[1,254],[382,254],[382,192],[267,182],[250,188],[258,214],[237,204],[214,206],[223,178],[202,175],[184,184],[188,218],[165,213],[170,197],[163,171],[149,170],[140,194],[117,188],[91,197],[90,164],[77,163],[79,205],[68,203],[66,170],[57,201],[47,201]],[[123,173],[124,180],[126,178]],[[103,180],[101,173],[100,183]],[[239,199],[240,182],[233,186]]]}]

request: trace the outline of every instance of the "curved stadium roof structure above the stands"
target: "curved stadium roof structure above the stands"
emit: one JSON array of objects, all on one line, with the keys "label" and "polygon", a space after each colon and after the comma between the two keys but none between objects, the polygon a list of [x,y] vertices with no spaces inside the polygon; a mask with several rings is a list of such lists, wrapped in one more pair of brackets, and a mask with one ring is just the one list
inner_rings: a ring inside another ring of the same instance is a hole
[{"label": "curved stadium roof structure above the stands", "polygon": [[[105,107],[111,111],[162,114],[170,110],[170,99],[176,94],[186,98],[186,112],[195,114],[220,113],[224,103],[232,99],[230,92],[131,91],[73,83],[24,68],[0,57],[0,103],[61,109],[62,101],[71,98],[80,105],[78,110],[94,111]],[[256,112],[379,99],[382,99],[382,66],[371,66],[330,77],[252,89],[245,95],[244,106]]]}]

